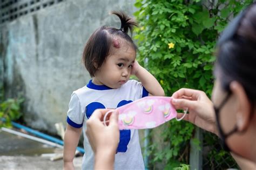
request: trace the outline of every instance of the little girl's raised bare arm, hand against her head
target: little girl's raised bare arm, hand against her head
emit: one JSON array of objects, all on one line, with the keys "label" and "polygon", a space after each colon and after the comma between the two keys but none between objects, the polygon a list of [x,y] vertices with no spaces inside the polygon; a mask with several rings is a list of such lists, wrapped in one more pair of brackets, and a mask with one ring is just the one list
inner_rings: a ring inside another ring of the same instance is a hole
[{"label": "little girl's raised bare arm, hand against her head", "polygon": [[132,74],[142,82],[142,85],[149,92],[150,96],[165,96],[164,89],[158,83],[157,79],[149,71],[140,66],[137,60],[133,64]]}]

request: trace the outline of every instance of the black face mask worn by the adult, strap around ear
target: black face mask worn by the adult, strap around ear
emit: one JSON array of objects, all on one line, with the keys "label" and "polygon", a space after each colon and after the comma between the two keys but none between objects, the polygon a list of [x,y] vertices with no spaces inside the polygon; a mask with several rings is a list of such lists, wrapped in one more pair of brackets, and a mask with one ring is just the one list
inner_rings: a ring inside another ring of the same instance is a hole
[{"label": "black face mask worn by the adult, strap around ear", "polygon": [[233,130],[231,130],[230,132],[228,133],[224,133],[223,129],[221,128],[221,125],[220,125],[220,110],[221,108],[223,108],[223,106],[226,104],[226,102],[228,101],[228,98],[230,98],[231,96],[231,92],[228,92],[227,96],[225,97],[225,99],[221,102],[220,106],[219,107],[216,107],[214,106],[214,111],[215,111],[215,116],[216,116],[216,121],[217,121],[217,127],[218,127],[218,130],[219,130],[219,134],[220,134],[220,139],[222,141],[222,145],[223,145],[223,148],[230,152],[230,148],[227,146],[227,143],[226,143],[226,139],[228,137],[230,137],[232,134],[234,134],[235,132],[238,132],[238,127],[235,126],[233,128]]}]

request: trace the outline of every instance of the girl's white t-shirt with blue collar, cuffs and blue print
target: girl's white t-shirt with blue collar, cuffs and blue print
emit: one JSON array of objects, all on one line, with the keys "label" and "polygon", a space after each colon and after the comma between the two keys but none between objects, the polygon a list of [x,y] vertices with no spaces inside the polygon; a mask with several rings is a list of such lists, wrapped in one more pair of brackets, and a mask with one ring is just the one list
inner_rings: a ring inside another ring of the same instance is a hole
[{"label": "girl's white t-shirt with blue collar, cuffs and blue print", "polygon": [[[117,108],[148,94],[142,83],[136,80],[129,80],[118,89],[95,85],[90,80],[86,86],[72,93],[67,122],[76,128],[83,126],[85,154],[82,169],[93,169],[94,166],[94,154],[85,135],[86,120],[93,111],[97,108]],[[138,130],[120,131],[114,169],[145,169]]]}]

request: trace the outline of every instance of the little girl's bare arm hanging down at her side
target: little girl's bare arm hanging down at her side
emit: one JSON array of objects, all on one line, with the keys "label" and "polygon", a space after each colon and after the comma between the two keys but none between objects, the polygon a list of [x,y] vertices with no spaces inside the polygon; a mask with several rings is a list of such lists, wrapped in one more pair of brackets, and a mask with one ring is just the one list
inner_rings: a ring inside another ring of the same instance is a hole
[{"label": "little girl's bare arm hanging down at her side", "polygon": [[75,128],[67,124],[64,136],[64,169],[75,169],[73,166],[73,158],[75,157],[76,147],[82,132],[81,128]]}]

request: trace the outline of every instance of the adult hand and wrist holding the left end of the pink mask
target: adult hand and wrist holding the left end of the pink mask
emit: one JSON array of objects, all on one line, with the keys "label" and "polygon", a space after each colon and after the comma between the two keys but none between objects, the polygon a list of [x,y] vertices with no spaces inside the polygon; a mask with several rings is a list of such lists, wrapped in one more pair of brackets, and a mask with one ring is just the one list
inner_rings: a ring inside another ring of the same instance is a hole
[{"label": "adult hand and wrist holding the left end of the pink mask", "polygon": [[113,111],[107,126],[103,118],[109,109],[95,110],[86,122],[86,135],[95,153],[95,169],[113,169],[120,132],[118,129],[118,113]]}]

